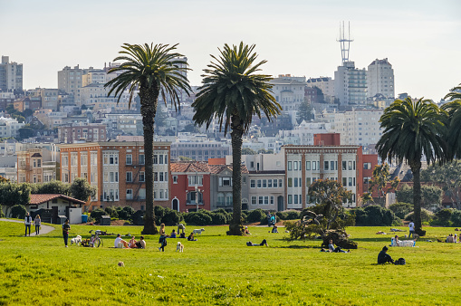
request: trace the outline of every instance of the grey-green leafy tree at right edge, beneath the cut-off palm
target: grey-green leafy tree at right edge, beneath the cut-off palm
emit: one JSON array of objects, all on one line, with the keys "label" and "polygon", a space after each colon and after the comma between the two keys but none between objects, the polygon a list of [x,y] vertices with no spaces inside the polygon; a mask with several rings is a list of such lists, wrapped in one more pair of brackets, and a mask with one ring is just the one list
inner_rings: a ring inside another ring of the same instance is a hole
[{"label": "grey-green leafy tree at right edge, beneath the cut-off palm", "polygon": [[459,161],[427,167],[421,171],[421,181],[441,186],[452,205],[461,209],[461,164]]}]

